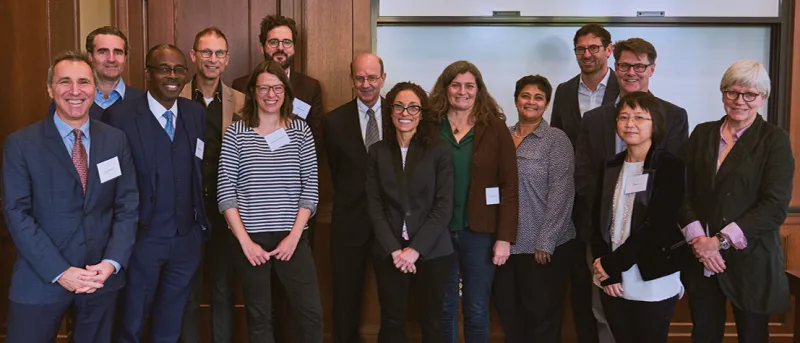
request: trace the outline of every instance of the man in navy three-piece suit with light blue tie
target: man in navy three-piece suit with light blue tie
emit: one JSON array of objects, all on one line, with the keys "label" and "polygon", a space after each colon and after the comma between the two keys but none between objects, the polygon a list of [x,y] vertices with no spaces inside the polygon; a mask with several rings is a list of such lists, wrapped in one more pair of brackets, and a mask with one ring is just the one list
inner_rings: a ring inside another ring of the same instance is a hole
[{"label": "man in navy three-piece suit with light blue tie", "polygon": [[205,109],[180,98],[186,57],[173,45],[147,52],[146,96],[109,107],[103,121],[128,137],[139,183],[139,231],[116,342],[178,341],[190,283],[200,265]]}]

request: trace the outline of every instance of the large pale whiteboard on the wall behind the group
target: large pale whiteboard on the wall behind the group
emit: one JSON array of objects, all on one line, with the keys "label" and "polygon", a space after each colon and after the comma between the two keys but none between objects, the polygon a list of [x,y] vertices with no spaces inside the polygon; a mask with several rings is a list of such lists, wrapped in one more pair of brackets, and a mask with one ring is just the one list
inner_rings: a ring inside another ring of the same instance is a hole
[{"label": "large pale whiteboard on the wall behind the group", "polygon": [[[383,3],[382,3],[383,6]],[[525,75],[541,74],[553,85],[580,72],[572,51],[579,26],[378,26],[377,54],[387,74],[384,94],[400,81],[430,91],[450,63],[468,60],[483,74],[492,96],[517,122],[514,84]],[[718,120],[725,112],[719,83],[731,63],[760,61],[769,70],[770,28],[611,26],[612,41],[640,37],[657,52],[650,79],[654,95],[686,109],[689,128]],[[609,59],[613,68],[614,58]],[[552,105],[552,104],[551,104]],[[552,106],[551,106],[552,107]],[[766,103],[760,113],[767,116]],[[548,108],[545,119],[550,120]]]}]

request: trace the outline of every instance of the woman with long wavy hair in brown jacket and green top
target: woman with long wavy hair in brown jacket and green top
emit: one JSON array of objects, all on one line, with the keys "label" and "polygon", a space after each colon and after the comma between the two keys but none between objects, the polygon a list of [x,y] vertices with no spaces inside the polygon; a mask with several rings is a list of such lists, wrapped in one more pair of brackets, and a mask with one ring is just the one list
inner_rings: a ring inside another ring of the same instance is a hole
[{"label": "woman with long wavy hair in brown jacket and green top", "polygon": [[447,66],[430,102],[440,136],[453,155],[453,218],[448,228],[456,253],[445,291],[444,341],[458,340],[461,281],[465,340],[488,342],[495,266],[506,263],[517,237],[514,142],[505,115],[472,63]]}]

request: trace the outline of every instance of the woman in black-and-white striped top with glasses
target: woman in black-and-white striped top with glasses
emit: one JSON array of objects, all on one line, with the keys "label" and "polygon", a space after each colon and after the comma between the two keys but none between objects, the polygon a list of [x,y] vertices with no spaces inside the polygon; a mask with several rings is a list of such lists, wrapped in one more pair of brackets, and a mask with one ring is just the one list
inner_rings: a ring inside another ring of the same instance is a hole
[{"label": "woman in black-and-white striped top with glasses", "polygon": [[273,342],[271,270],[297,313],[302,337],[322,341],[322,304],[306,229],[317,209],[317,159],[305,121],[292,114],[283,68],[268,60],[247,83],[242,120],[222,140],[219,210],[238,242],[250,342]]}]

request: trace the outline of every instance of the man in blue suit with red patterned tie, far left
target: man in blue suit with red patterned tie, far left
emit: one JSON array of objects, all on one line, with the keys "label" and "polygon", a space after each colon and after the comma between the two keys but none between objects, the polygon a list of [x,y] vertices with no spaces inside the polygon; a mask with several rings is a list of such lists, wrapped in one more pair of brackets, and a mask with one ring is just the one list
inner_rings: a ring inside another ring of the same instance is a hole
[{"label": "man in blue suit with red patterned tie, far left", "polygon": [[17,248],[6,342],[53,342],[68,310],[76,342],[111,342],[139,216],[133,160],[121,131],[89,118],[85,55],[59,55],[47,81],[55,109],[3,150],[3,213]]}]

